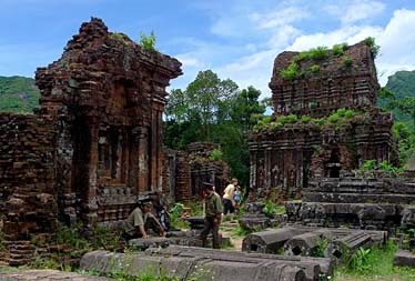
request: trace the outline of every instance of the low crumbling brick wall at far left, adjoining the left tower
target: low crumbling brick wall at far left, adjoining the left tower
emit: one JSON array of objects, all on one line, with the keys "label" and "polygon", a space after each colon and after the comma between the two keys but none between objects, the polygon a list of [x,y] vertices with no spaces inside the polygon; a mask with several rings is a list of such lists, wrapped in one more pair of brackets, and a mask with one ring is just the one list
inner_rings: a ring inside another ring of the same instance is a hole
[{"label": "low crumbling brick wall at far left, adjoining the left tower", "polygon": [[50,117],[0,114],[0,202],[8,239],[55,231],[55,141]]}]

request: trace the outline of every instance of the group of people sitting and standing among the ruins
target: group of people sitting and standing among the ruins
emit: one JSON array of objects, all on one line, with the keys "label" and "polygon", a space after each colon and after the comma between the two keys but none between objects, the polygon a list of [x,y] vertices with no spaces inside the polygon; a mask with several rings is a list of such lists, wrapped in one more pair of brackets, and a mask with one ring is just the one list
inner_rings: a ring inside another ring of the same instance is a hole
[{"label": "group of people sitting and standing among the ruins", "polygon": [[[239,211],[242,200],[242,190],[237,185],[237,180],[232,179],[231,183],[225,188],[221,198],[215,188],[211,183],[203,183],[203,201],[204,201],[204,228],[201,232],[203,247],[206,247],[209,232],[212,231],[213,249],[220,248],[219,227],[223,215],[230,214],[231,221],[234,219],[235,211]],[[126,219],[125,238],[148,238],[149,231],[165,235],[165,223],[161,223],[162,219],[158,219],[151,212],[153,207],[151,201],[139,202],[132,213]],[[158,211],[159,213],[159,211]],[[164,212],[165,215],[165,212]],[[162,218],[162,217],[161,217]]]}]

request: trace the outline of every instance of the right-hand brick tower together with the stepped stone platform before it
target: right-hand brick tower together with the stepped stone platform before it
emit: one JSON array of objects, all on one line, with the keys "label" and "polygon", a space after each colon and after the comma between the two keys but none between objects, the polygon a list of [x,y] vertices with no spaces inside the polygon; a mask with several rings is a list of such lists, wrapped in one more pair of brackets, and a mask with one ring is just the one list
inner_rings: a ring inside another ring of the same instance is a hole
[{"label": "right-hand brick tower together with the stepped stone platform before it", "polygon": [[[282,72],[295,60],[302,74],[284,80]],[[294,224],[388,233],[415,225],[413,164],[398,178],[356,171],[365,160],[396,161],[393,116],[376,107],[379,87],[365,42],[343,56],[328,50],[323,60],[283,52],[270,88],[275,121],[250,139],[253,193],[274,189],[301,197],[285,204],[287,222]],[[286,117],[292,121],[277,123]]]}]

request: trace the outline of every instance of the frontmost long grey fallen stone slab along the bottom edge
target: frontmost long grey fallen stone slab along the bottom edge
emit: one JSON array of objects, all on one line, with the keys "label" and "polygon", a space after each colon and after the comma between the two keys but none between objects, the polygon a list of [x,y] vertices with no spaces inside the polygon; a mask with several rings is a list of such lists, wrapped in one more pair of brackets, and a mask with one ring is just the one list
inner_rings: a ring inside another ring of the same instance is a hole
[{"label": "frontmost long grey fallen stone slab along the bottom edge", "polygon": [[124,272],[130,275],[149,273],[160,277],[169,274],[180,279],[198,277],[198,280],[252,281],[252,280],[298,280],[304,281],[305,272],[298,267],[272,260],[236,261],[215,257],[162,257],[143,252],[112,253],[94,251],[84,254],[80,268],[102,273]]}]

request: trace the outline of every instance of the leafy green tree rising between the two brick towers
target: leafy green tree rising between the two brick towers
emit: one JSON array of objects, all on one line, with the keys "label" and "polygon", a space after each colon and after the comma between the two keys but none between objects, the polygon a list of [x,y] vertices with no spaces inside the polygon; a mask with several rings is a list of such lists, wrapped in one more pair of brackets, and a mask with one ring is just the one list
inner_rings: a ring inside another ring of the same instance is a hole
[{"label": "leafy green tree rising between the two brick towers", "polygon": [[257,101],[261,91],[249,87],[240,91],[231,79],[221,80],[211,70],[201,71],[188,88],[172,90],[165,108],[164,143],[184,149],[194,141],[220,145],[231,175],[247,184],[250,153],[246,131],[265,107]]}]

